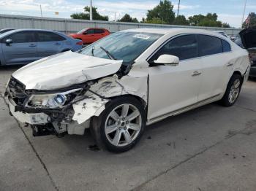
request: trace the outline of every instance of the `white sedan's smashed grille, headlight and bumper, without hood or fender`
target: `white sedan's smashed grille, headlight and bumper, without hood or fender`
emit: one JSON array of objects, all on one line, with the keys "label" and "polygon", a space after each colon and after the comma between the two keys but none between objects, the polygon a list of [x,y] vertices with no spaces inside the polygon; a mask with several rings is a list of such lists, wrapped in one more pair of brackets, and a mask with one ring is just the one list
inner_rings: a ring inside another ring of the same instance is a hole
[{"label": "white sedan's smashed grille, headlight and bumper, without hood or fender", "polygon": [[[85,128],[89,128],[90,117],[101,107],[104,109],[109,101],[91,93],[91,84],[94,82],[61,90],[26,90],[25,85],[11,77],[5,98],[10,114],[19,122],[31,125],[34,136],[49,133],[57,136],[64,133],[83,135]],[[83,117],[80,116],[82,114]]]}]

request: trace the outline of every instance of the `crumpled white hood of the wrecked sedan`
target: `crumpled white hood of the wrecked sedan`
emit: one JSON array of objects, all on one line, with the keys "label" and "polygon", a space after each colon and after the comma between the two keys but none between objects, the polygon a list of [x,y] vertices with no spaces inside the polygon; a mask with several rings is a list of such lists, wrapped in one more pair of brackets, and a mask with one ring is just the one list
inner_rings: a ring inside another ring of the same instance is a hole
[{"label": "crumpled white hood of the wrecked sedan", "polygon": [[115,74],[121,63],[69,51],[23,66],[12,77],[26,90],[55,90]]}]

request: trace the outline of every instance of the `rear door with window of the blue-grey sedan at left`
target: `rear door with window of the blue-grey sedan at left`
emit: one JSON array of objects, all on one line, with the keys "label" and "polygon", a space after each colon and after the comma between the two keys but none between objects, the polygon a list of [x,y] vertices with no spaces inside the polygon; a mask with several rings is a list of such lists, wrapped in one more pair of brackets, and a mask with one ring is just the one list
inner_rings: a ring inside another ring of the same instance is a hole
[{"label": "rear door with window of the blue-grey sedan at left", "polygon": [[40,58],[61,52],[65,38],[49,31],[37,31],[37,53]]}]

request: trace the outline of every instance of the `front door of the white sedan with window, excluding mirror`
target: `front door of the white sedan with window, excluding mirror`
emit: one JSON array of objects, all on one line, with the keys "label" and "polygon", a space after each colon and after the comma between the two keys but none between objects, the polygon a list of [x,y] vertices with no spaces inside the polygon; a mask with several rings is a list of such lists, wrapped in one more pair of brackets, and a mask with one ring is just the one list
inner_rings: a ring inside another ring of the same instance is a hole
[{"label": "front door of the white sedan with window, excluding mirror", "polygon": [[160,48],[149,63],[159,55],[176,55],[178,66],[149,67],[148,120],[176,112],[197,103],[201,82],[200,58],[195,35],[178,36]]}]

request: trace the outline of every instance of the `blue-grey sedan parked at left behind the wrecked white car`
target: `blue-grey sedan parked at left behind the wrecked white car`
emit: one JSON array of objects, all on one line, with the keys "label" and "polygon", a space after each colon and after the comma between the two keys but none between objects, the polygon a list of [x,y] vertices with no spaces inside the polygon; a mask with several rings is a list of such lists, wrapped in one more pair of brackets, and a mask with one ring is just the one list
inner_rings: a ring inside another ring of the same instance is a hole
[{"label": "blue-grey sedan parked at left behind the wrecked white car", "polygon": [[0,65],[26,64],[68,50],[83,42],[57,31],[18,29],[0,34]]}]

